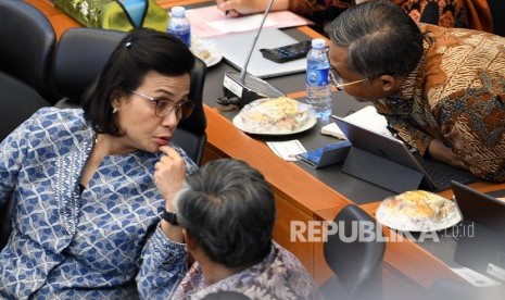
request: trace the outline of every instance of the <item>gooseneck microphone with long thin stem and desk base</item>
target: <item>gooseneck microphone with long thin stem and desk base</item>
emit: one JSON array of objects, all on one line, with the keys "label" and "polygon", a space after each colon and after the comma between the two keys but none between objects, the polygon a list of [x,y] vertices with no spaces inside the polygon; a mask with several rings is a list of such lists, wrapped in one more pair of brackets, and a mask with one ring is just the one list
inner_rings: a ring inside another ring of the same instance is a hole
[{"label": "gooseneck microphone with long thin stem and desk base", "polygon": [[248,74],[248,65],[251,59],[251,55],[256,46],[257,38],[263,29],[263,24],[265,23],[268,13],[270,12],[272,4],[274,0],[268,2],[268,5],[263,14],[262,22],[257,28],[256,36],[253,39],[251,49],[249,50],[248,58],[243,64],[242,71],[238,72],[226,72],[223,79],[223,88],[225,92],[225,98],[217,100],[217,103],[223,105],[236,104],[239,109],[243,108],[245,104],[260,99],[267,97],[282,97],[286,96],[283,92],[279,91],[277,88],[273,87],[267,82]]}]

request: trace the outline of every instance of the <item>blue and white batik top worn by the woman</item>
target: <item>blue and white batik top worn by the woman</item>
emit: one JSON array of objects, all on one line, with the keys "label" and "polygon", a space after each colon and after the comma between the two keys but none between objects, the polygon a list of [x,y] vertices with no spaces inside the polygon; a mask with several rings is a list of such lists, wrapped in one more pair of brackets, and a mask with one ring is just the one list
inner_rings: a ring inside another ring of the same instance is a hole
[{"label": "blue and white batik top worn by the woman", "polygon": [[[164,209],[153,184],[161,153],[105,157],[80,195],[94,136],[83,110],[46,108],[0,143],[0,205],[11,193],[15,201],[13,232],[0,252],[0,298],[138,298],[137,286],[144,295],[155,289],[146,278],[157,264],[176,255],[184,262],[184,247],[168,250],[151,238]],[[178,273],[178,261],[162,268]],[[146,276],[136,280],[140,270]]]}]

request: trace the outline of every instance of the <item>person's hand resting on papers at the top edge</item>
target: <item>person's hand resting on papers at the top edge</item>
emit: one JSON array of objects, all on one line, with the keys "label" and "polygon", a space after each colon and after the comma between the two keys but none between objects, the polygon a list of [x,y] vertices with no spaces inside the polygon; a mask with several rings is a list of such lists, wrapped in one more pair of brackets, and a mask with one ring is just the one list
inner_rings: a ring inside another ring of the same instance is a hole
[{"label": "person's hand resting on papers at the top edge", "polygon": [[[217,8],[228,12],[229,16],[264,12],[269,0],[216,0]],[[277,0],[272,4],[273,11],[287,10],[289,0]]]}]

